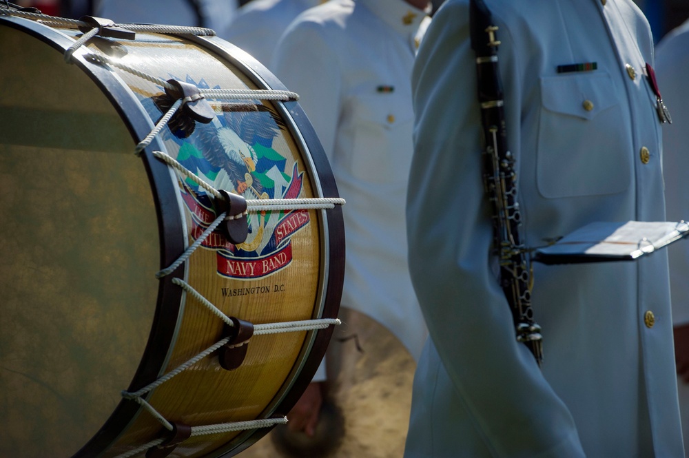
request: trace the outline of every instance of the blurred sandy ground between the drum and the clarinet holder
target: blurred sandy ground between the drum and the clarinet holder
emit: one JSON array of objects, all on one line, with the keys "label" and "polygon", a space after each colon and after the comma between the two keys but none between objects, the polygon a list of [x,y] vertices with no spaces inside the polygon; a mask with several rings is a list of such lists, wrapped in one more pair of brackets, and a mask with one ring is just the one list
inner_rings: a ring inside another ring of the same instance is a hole
[{"label": "blurred sandy ground between the drum and the clarinet holder", "polygon": [[[326,420],[320,422],[316,439],[303,433],[289,433],[282,427],[238,457],[402,457],[415,362],[389,331],[370,318],[341,309],[340,320],[343,324],[331,340],[327,367],[333,412],[342,413],[343,424],[338,425],[336,420],[329,423],[330,418],[324,415]],[[276,442],[279,445],[284,440],[291,452],[284,446],[276,447]],[[322,450],[333,447],[334,450]]]}]

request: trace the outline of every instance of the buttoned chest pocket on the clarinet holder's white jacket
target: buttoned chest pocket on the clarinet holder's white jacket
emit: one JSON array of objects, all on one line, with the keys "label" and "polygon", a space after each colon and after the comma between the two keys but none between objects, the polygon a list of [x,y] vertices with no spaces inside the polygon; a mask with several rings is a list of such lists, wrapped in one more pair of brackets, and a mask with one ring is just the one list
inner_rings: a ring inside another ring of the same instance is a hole
[{"label": "buttoned chest pocket on the clarinet holder's white jacket", "polygon": [[553,76],[540,83],[539,193],[563,198],[628,189],[629,133],[610,75]]}]

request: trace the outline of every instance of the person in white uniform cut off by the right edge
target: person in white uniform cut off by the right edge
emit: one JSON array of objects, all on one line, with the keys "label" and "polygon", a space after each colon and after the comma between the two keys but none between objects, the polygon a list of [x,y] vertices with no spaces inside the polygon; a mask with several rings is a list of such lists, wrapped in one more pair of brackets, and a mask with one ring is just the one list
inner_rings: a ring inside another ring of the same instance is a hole
[{"label": "person in white uniform cut off by the right edge", "polygon": [[[689,220],[689,20],[670,31],[656,49],[656,74],[672,114],[663,126],[668,220]],[[679,410],[684,443],[689,444],[689,242],[668,253]]]}]

